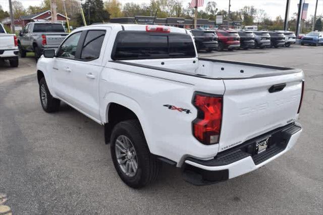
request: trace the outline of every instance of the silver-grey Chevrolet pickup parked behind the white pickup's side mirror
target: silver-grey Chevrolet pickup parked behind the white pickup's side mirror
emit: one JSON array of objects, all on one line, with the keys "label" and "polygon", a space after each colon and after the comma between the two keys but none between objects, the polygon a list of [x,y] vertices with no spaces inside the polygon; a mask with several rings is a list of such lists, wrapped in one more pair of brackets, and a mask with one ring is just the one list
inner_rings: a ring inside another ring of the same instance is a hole
[{"label": "silver-grey Chevrolet pickup parked behind the white pickup's side mirror", "polygon": [[43,50],[57,49],[67,35],[61,23],[28,23],[18,37],[21,57],[25,57],[26,52],[35,52],[35,58],[38,60]]}]

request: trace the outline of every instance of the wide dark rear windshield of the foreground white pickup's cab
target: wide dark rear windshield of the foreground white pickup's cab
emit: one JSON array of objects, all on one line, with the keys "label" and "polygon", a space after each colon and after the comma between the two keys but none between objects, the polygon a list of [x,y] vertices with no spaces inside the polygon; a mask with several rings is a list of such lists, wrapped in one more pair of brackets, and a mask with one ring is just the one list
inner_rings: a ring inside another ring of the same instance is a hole
[{"label": "wide dark rear windshield of the foreground white pickup's cab", "polygon": [[194,44],[188,34],[122,31],[117,35],[112,58],[122,60],[195,56]]}]

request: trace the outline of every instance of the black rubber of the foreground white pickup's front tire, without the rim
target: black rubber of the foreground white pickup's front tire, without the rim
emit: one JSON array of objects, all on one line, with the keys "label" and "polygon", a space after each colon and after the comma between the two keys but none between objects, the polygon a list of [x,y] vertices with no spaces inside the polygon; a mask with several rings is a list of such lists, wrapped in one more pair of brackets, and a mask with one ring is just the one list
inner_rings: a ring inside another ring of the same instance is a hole
[{"label": "black rubber of the foreground white pickup's front tire, without the rim", "polygon": [[[42,93],[41,93],[42,87],[44,88],[46,93],[46,103],[42,99]],[[44,109],[45,112],[52,113],[60,109],[61,100],[52,97],[52,95],[48,90],[45,78],[42,78],[39,82],[39,98],[40,98],[40,104],[42,106],[42,109]]]}]

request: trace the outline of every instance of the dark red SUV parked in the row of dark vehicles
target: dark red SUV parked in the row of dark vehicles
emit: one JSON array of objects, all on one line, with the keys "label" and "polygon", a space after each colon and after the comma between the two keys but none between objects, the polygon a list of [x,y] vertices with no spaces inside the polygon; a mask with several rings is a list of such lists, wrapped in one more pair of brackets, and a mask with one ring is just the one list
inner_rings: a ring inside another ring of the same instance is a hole
[{"label": "dark red SUV parked in the row of dark vehicles", "polygon": [[218,35],[217,51],[223,49],[233,50],[240,48],[240,36],[237,31],[231,30],[216,30]]}]

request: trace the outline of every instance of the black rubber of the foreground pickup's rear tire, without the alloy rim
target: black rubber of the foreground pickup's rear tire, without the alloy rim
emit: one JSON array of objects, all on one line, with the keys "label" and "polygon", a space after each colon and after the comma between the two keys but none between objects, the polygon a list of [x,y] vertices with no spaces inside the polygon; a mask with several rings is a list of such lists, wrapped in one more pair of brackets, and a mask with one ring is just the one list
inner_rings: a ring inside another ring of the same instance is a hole
[{"label": "black rubber of the foreground pickup's rear tire, without the alloy rim", "polygon": [[[138,168],[132,177],[124,173],[118,163],[116,141],[121,135],[128,137],[135,149]],[[138,120],[122,121],[114,127],[111,135],[111,157],[121,180],[136,189],[152,183],[157,178],[161,166],[160,162],[150,154]]]}]

